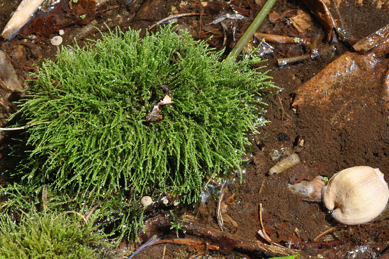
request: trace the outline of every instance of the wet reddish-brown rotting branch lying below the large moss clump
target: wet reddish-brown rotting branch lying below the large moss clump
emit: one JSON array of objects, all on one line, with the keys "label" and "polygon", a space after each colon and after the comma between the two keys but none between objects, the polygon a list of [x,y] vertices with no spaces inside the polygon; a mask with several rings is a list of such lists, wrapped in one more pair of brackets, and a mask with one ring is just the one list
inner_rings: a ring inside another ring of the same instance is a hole
[{"label": "wet reddish-brown rotting branch lying below the large moss clump", "polygon": [[[158,229],[170,229],[172,217],[170,215],[159,214],[145,222],[144,231],[139,230],[139,238],[141,241],[146,241]],[[315,258],[309,256],[301,250],[295,250],[287,247],[279,247],[265,244],[259,241],[251,241],[242,238],[236,234],[230,234],[226,231],[221,231],[213,228],[210,225],[198,223],[190,217],[179,220],[182,231],[186,235],[199,237],[210,245],[218,247],[219,251],[224,254],[229,254],[233,249],[250,252],[257,257],[280,257],[300,254],[301,259]],[[254,231],[254,230],[253,230]]]}]

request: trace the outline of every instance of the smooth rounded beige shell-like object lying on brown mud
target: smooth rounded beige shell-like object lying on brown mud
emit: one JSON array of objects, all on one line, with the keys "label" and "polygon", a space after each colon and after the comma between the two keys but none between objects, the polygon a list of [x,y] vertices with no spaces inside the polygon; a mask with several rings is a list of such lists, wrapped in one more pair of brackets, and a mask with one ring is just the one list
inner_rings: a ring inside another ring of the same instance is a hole
[{"label": "smooth rounded beige shell-like object lying on brown mud", "polygon": [[325,207],[340,223],[357,225],[371,221],[384,210],[388,184],[378,168],[356,166],[336,173],[322,189]]}]

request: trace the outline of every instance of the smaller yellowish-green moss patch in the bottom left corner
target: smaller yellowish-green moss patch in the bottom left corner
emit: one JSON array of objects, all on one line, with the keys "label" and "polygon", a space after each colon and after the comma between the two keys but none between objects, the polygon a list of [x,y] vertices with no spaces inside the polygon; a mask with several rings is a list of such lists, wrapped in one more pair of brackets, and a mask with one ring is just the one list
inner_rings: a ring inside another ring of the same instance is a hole
[{"label": "smaller yellowish-green moss patch in the bottom left corner", "polygon": [[101,258],[102,248],[107,251],[109,245],[106,235],[92,223],[90,220],[84,224],[69,215],[31,213],[16,224],[8,216],[2,216],[0,258]]}]

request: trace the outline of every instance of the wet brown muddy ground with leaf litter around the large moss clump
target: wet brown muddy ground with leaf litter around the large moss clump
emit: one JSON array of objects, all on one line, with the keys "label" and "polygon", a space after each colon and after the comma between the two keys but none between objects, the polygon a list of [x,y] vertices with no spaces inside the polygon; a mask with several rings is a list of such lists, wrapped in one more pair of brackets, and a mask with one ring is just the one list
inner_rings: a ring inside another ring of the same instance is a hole
[{"label": "wet brown muddy ground with leaf litter around the large moss clump", "polygon": [[[19,2],[0,0],[0,28],[5,26]],[[0,40],[0,49],[11,57],[19,81],[27,87],[31,82],[26,80],[29,72],[34,71],[35,62],[54,58],[56,48],[50,44],[50,38],[58,35],[59,29],[65,31],[65,45],[71,44],[74,38],[82,45],[87,38],[98,38],[96,28],[106,30],[106,25],[109,28],[120,26],[123,30],[129,26],[144,32],[172,14],[194,13],[198,15],[178,18],[178,26],[188,29],[196,39],[212,36],[210,45],[226,48],[228,53],[264,2],[111,0],[96,9],[86,6],[69,10],[70,1],[61,0],[57,6],[62,4],[62,7],[55,13],[41,14],[40,23],[32,20],[14,39]],[[326,40],[328,32],[301,1],[277,1],[258,30],[266,34],[306,37],[311,44],[268,42],[272,49],[263,53],[267,59],[263,64],[270,69],[275,85],[282,90],[267,100],[265,119],[271,122],[253,138],[242,183],[238,179],[225,187],[225,225],[231,234],[266,243],[258,235],[262,214],[271,240],[285,247],[302,249],[313,257],[377,258],[389,245],[388,210],[371,223],[344,226],[331,218],[322,203],[304,201],[288,189],[288,184],[312,180],[318,174],[330,178],[342,169],[359,165],[379,168],[389,181],[389,99],[385,88],[388,58],[376,55],[369,63],[365,62],[365,57],[359,60],[359,56],[346,54],[344,60],[354,60],[357,64],[352,69],[347,64],[340,64],[320,73],[342,54],[355,53],[352,45],[359,39],[385,26],[389,5],[381,1],[328,2],[336,17],[337,31],[332,33],[329,42]],[[86,17],[74,19],[74,10],[81,10]],[[212,23],[225,14],[240,14],[243,18],[227,18],[223,24]],[[42,22],[45,22],[43,27],[39,26]],[[253,44],[258,42],[259,39]],[[330,45],[334,47],[325,52]],[[322,54],[282,67],[277,64],[279,58],[307,54],[312,49],[318,49]],[[334,75],[339,78],[332,80]],[[318,91],[304,87],[309,80]],[[323,86],[327,83],[328,87]],[[5,119],[15,110],[12,102],[18,98],[18,93],[0,89],[1,126],[7,124]],[[1,153],[6,155],[9,135],[1,134]],[[285,156],[296,153],[301,163],[278,175],[269,175],[269,169],[276,163],[271,159],[272,154],[277,152]],[[205,204],[195,208],[180,207],[175,212],[178,216],[184,212],[193,213],[198,222],[219,229],[216,220],[219,190],[215,187]],[[318,242],[313,241],[333,226],[339,229]],[[160,230],[156,235],[174,238],[176,234]],[[185,235],[180,233],[180,237]],[[185,238],[196,239],[193,236]],[[202,249],[192,245],[156,244],[142,249],[133,258],[190,258],[201,252]],[[256,258],[255,254],[240,250],[223,255],[210,249],[209,253],[197,258]]]}]

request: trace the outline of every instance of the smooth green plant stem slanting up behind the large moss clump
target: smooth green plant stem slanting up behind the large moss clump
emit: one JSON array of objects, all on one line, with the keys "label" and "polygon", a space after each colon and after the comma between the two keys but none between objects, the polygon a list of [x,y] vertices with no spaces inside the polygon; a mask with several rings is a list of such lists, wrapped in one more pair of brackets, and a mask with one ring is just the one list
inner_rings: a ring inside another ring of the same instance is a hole
[{"label": "smooth green plant stem slanting up behind the large moss clump", "polygon": [[243,48],[246,46],[252,35],[254,35],[255,31],[261,25],[263,20],[265,19],[267,13],[273,7],[276,0],[267,0],[264,7],[262,7],[261,11],[258,13],[257,17],[252,21],[250,26],[248,26],[246,32],[242,35],[242,37],[238,40],[235,47],[232,49],[230,54],[227,56],[226,60],[235,61],[236,57],[242,52]]}]

